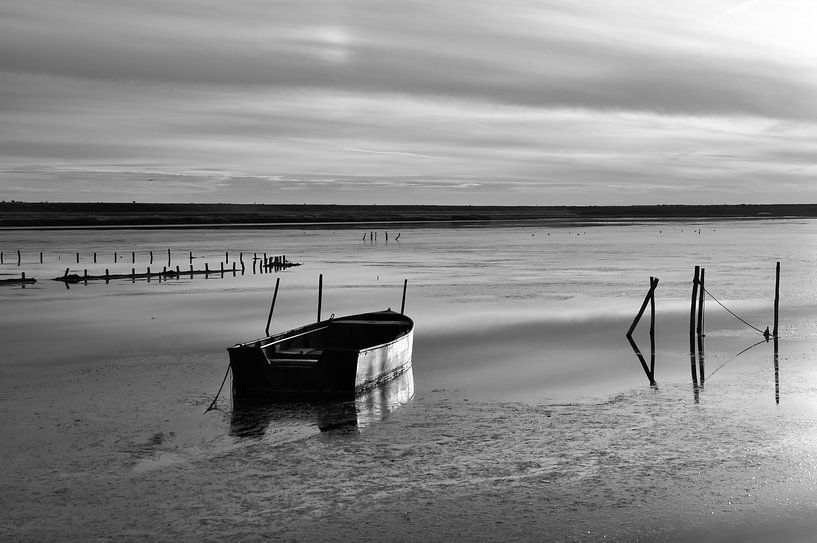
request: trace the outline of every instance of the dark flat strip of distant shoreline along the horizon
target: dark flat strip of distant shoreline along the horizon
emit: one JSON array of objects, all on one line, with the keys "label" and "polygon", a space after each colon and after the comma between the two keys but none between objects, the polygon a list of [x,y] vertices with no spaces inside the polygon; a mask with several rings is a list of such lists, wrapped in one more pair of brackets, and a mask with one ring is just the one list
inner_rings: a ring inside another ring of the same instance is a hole
[{"label": "dark flat strip of distant shoreline along the horizon", "polygon": [[817,204],[430,206],[0,202],[0,228],[548,224],[817,218]]}]

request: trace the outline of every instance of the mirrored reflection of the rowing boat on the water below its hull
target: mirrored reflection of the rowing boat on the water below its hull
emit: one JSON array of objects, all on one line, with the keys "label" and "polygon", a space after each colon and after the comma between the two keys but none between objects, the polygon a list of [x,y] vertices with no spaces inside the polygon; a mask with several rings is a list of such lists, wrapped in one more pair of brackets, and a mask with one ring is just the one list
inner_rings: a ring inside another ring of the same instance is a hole
[{"label": "mirrored reflection of the rowing boat on the water below its hull", "polygon": [[313,402],[236,400],[230,435],[261,437],[279,427],[317,426],[321,432],[366,428],[414,396],[411,366],[395,378],[348,399]]}]

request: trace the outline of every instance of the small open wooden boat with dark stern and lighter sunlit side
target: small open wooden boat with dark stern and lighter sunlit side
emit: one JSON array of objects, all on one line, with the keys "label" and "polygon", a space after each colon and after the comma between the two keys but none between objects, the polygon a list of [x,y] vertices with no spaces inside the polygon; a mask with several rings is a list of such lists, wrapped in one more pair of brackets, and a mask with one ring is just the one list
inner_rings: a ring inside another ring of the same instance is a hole
[{"label": "small open wooden boat with dark stern and lighter sunlit side", "polygon": [[411,368],[414,321],[391,310],[316,323],[228,348],[233,398],[353,399]]}]

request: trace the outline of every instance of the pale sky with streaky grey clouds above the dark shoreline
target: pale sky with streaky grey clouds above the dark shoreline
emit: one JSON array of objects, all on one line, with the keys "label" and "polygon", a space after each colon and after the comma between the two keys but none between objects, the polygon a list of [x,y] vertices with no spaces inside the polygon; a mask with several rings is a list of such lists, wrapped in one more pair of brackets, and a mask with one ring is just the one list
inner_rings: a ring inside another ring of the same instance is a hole
[{"label": "pale sky with streaky grey clouds above the dark shoreline", "polygon": [[817,203],[813,0],[0,0],[0,200]]}]

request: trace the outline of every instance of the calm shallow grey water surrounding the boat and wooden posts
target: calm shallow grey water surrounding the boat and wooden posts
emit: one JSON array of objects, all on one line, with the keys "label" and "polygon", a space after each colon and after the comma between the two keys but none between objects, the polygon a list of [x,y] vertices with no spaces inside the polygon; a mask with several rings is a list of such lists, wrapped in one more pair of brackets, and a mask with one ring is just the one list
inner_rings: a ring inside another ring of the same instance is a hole
[{"label": "calm shallow grey water surrounding the boat and wooden posts", "polygon": [[[0,287],[0,536],[683,540],[811,518],[817,223],[370,231],[0,231],[0,273],[38,279]],[[190,251],[214,270],[242,252],[247,271],[48,280],[161,270],[168,249],[182,269]],[[253,252],[302,265],[253,274]],[[693,267],[763,329],[776,261],[777,371],[771,344],[735,357],[762,338],[708,301],[694,388]],[[413,382],[262,413],[223,394],[202,416],[226,347],[263,334],[276,278],[282,330],[316,318],[321,273],[324,317],[397,309],[408,280]],[[650,276],[657,387],[624,337]]]}]

